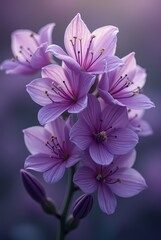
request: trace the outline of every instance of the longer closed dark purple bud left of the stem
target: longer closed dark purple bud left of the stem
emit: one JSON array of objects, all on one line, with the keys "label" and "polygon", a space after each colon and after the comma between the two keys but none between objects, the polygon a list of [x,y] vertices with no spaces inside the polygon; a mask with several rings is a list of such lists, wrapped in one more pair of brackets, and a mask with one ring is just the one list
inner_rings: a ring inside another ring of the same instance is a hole
[{"label": "longer closed dark purple bud left of the stem", "polygon": [[47,197],[45,189],[38,179],[24,169],[21,169],[20,173],[28,194],[40,204],[46,202]]}]

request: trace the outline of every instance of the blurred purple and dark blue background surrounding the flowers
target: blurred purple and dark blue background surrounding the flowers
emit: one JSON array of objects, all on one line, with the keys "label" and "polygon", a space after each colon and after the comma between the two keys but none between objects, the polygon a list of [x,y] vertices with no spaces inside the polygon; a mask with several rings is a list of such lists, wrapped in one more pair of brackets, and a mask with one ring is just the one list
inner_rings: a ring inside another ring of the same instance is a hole
[{"label": "blurred purple and dark blue background surrounding the flowers", "polygon": [[[145,119],[154,134],[140,138],[135,168],[148,189],[136,197],[118,198],[116,212],[103,214],[97,203],[92,213],[67,240],[161,239],[161,1],[160,0],[0,0],[0,62],[12,57],[10,35],[16,29],[37,32],[55,22],[53,43],[63,47],[64,30],[80,12],[91,31],[104,25],[119,27],[117,56],[135,51],[139,65],[147,69],[144,92],[155,102]],[[54,240],[57,221],[47,216],[27,195],[19,176],[28,151],[22,129],[38,125],[36,105],[25,86],[36,76],[17,77],[0,72],[0,239]],[[48,195],[60,206],[65,180],[47,185],[36,175]]]}]

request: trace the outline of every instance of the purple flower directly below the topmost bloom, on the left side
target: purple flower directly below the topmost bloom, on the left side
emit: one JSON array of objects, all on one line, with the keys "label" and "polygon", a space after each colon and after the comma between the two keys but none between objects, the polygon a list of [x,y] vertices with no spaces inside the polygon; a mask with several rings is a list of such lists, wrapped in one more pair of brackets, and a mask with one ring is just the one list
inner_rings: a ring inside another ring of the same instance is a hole
[{"label": "purple flower directly below the topmost bloom, on the left side", "polygon": [[44,67],[42,76],[27,85],[31,98],[43,106],[38,113],[41,124],[55,120],[66,110],[78,113],[87,106],[94,76],[55,64]]}]

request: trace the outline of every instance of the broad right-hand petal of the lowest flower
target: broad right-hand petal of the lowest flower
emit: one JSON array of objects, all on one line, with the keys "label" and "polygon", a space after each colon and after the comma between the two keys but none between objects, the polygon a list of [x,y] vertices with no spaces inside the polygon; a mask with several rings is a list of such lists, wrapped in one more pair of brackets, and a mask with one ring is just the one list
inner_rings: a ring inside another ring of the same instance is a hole
[{"label": "broad right-hand petal of the lowest flower", "polygon": [[113,177],[119,179],[119,181],[108,186],[112,192],[120,197],[132,197],[147,188],[144,178],[131,168],[119,169]]}]

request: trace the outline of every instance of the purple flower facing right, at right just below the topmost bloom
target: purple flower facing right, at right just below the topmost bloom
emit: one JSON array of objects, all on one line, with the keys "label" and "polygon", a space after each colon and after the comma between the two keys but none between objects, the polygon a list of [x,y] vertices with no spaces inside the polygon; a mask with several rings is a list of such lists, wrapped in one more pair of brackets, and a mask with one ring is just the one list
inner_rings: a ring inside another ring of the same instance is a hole
[{"label": "purple flower facing right, at right just below the topmost bloom", "polygon": [[123,59],[124,65],[110,73],[104,72],[99,83],[100,96],[107,102],[133,109],[154,107],[150,99],[142,94],[146,73],[136,65],[134,53]]}]

